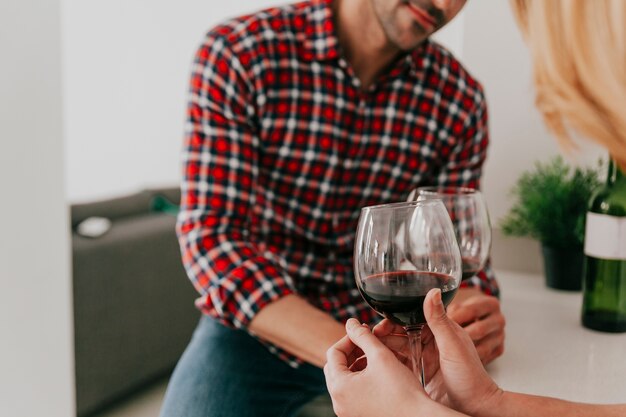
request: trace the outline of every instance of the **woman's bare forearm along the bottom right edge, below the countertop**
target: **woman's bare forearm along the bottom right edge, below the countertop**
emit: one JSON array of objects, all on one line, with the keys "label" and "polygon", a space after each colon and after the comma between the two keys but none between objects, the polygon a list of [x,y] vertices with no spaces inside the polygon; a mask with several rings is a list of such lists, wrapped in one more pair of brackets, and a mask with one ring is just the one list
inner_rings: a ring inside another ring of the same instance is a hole
[{"label": "woman's bare forearm along the bottom right edge, below the countertop", "polygon": [[489,409],[477,417],[618,417],[626,415],[626,405],[582,404],[555,398],[503,392]]}]

